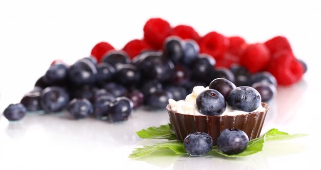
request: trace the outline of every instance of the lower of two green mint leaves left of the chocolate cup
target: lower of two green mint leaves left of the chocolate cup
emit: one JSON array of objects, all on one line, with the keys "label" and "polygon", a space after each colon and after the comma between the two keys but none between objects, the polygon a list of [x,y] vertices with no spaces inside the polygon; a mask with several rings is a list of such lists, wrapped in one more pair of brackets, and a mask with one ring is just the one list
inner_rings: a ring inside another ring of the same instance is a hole
[{"label": "lower of two green mint leaves left of the chocolate cup", "polygon": [[143,146],[140,148],[135,148],[129,158],[139,158],[144,157],[152,152],[155,151],[164,151],[164,150],[171,150],[175,154],[186,154],[183,142],[176,140],[176,141],[168,141],[163,143],[156,143],[152,145]]}]

